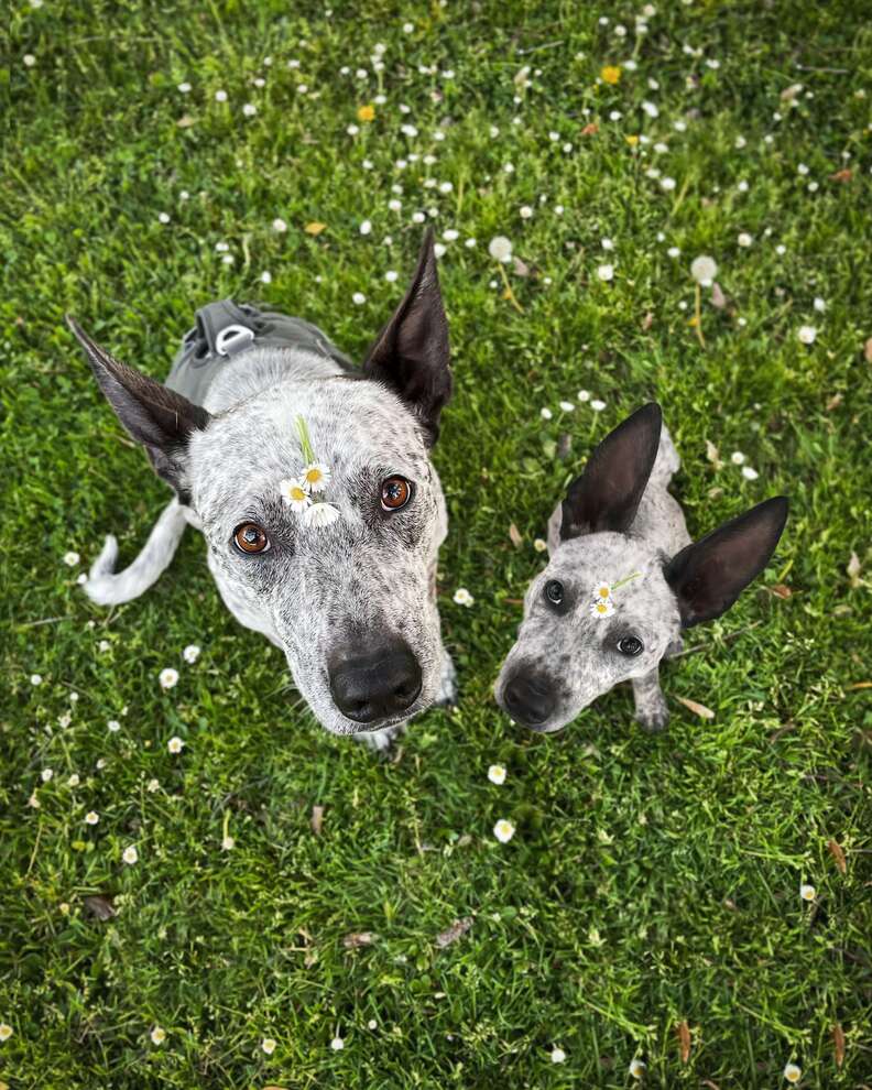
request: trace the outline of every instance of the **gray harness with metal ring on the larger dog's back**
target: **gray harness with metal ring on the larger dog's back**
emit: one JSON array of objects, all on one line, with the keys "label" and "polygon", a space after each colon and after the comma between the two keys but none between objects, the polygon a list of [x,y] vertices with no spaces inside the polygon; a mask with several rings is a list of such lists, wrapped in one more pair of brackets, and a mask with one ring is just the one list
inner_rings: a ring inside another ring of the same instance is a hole
[{"label": "gray harness with metal ring on the larger dog's back", "polygon": [[248,348],[296,348],[353,367],[310,321],[221,299],[197,310],[196,325],[185,334],[166,385],[201,405],[220,369]]}]

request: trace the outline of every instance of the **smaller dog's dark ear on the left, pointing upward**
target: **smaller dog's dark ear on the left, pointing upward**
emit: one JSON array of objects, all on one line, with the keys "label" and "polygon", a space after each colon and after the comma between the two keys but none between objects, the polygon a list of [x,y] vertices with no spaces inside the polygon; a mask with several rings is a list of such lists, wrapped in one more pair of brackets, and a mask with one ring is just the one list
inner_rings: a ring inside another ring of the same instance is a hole
[{"label": "smaller dog's dark ear on the left, pointing upward", "polygon": [[563,541],[630,526],[657,457],[662,426],[661,407],[652,402],[606,436],[566,493]]}]

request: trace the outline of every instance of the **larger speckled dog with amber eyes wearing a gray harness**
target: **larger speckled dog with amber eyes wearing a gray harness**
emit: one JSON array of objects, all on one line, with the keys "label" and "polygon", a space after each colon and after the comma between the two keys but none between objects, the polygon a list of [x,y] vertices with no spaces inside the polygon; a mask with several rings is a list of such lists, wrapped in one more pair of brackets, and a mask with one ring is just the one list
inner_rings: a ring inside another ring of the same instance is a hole
[{"label": "larger speckled dog with amber eyes wearing a gray harness", "polygon": [[[222,326],[224,310],[237,320]],[[164,385],[69,320],[119,419],[176,492],[124,571],[113,574],[107,538],[85,585],[94,601],[145,591],[189,523],[226,606],[284,652],[328,731],[381,749],[453,699],[436,609],[447,516],[429,459],[451,372],[432,236],[360,371],[316,327],[228,301],[198,312]],[[301,417],[331,473],[330,525],[306,526],[280,494],[304,465]]]}]

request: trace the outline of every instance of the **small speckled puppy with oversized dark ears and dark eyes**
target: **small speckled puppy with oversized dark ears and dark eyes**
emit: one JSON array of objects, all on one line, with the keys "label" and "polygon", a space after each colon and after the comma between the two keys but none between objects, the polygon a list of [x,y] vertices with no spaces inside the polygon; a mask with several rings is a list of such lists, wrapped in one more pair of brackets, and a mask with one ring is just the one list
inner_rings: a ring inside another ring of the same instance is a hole
[{"label": "small speckled puppy with oversized dark ears and dark eyes", "polygon": [[787,517],[776,497],[696,544],[667,491],[680,462],[660,406],[646,405],[596,448],[548,523],[548,565],[527,589],[517,642],[495,695],[536,731],[565,727],[631,680],[636,719],[668,721],[661,660],[683,629],[720,617],[765,567]]}]

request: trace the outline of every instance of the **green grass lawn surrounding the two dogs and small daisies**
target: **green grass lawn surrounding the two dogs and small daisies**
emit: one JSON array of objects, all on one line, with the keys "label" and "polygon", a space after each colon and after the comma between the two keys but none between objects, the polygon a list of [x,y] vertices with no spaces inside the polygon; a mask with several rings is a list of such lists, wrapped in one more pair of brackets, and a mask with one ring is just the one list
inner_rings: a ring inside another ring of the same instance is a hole
[{"label": "green grass lawn surrounding the two dogs and small daisies", "polygon": [[[337,2],[328,18],[277,0],[15,0],[0,297],[0,1022],[13,1036],[0,1081],[625,1087],[633,1057],[651,1087],[775,1087],[791,1059],[806,1087],[870,1079],[872,690],[858,686],[872,679],[872,35],[859,3],[657,7],[637,36],[634,9],[604,2]],[[528,88],[515,78],[525,64]],[[622,65],[614,87],[597,86],[604,64]],[[358,107],[380,92],[352,138]],[[651,142],[634,150],[625,138],[640,134]],[[422,157],[396,168],[410,152]],[[646,176],[653,164],[673,190]],[[453,189],[425,188],[427,177]],[[394,183],[401,212],[388,207]],[[442,261],[457,392],[435,458],[461,698],[422,717],[385,764],[312,721],[279,652],[224,610],[194,534],[141,600],[88,603],[76,576],[102,535],[118,532],[129,562],[167,492],[63,314],[154,375],[194,309],[230,294],[305,315],[361,358],[402,286],[384,273],[407,275],[422,230],[412,214],[430,207],[439,235],[460,232]],[[317,238],[303,230],[313,220],[327,225]],[[528,266],[508,268],[522,313],[488,257],[494,235]],[[706,293],[705,350],[688,324],[700,253],[717,260],[728,298],[718,309]],[[597,276],[606,260],[611,283]],[[818,329],[810,346],[797,337],[806,324]],[[604,411],[562,413],[580,389]],[[735,608],[690,634],[700,651],[666,667],[667,733],[643,735],[620,689],[563,734],[534,738],[491,697],[542,565],[533,539],[591,444],[655,396],[684,458],[691,531],[785,492],[787,532]],[[80,566],[64,566],[68,549]],[[792,597],[766,589],[778,582]],[[459,586],[472,608],[453,602]],[[195,666],[182,662],[188,643],[203,646]],[[167,665],[182,678],[163,693]],[[177,756],[174,734],[186,742]],[[509,769],[502,787],[487,780],[494,761]],[[500,817],[517,825],[506,846],[491,832]],[[133,866],[121,862],[129,844]],[[814,905],[800,882],[816,886]],[[97,893],[113,897],[113,918],[86,907]],[[436,936],[466,916],[471,929],[439,949]],[[347,949],[353,931],[377,938]],[[271,1057],[263,1037],[277,1042]]]}]

